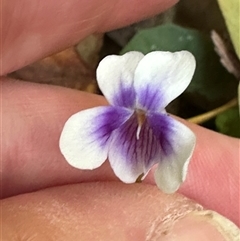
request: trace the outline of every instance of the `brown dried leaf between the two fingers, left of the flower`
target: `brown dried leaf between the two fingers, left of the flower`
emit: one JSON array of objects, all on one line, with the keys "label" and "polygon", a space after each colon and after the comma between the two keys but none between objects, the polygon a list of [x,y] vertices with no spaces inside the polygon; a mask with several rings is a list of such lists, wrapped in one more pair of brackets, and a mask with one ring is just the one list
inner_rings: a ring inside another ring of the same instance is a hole
[{"label": "brown dried leaf between the two fingers, left of the flower", "polygon": [[28,65],[11,73],[10,76],[25,81],[97,93],[95,70],[79,58],[74,47]]}]

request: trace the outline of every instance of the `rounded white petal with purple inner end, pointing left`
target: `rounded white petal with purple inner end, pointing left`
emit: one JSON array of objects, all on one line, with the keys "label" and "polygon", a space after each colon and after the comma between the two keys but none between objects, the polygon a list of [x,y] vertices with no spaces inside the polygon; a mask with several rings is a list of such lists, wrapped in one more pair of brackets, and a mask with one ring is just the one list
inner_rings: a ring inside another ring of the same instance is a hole
[{"label": "rounded white petal with purple inner end, pointing left", "polygon": [[125,123],[131,111],[120,107],[95,107],[72,115],[66,122],[60,150],[68,163],[94,169],[107,159],[111,133]]}]

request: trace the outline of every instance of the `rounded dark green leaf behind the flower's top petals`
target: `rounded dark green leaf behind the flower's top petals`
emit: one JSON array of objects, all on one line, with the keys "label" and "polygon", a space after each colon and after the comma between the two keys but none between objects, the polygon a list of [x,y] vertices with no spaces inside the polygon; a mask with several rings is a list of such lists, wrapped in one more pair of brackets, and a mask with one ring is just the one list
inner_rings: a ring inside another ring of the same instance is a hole
[{"label": "rounded dark green leaf behind the flower's top petals", "polygon": [[197,67],[185,96],[203,110],[216,108],[236,95],[237,83],[219,62],[210,37],[196,30],[174,24],[141,30],[121,53],[132,50],[144,54],[155,50],[191,52],[196,58]]}]

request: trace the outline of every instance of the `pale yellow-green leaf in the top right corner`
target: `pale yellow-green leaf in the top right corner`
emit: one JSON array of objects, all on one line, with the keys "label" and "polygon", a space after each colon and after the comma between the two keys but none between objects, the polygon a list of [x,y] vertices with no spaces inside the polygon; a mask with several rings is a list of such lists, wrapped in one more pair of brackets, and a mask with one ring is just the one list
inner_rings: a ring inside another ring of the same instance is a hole
[{"label": "pale yellow-green leaf in the top right corner", "polygon": [[234,48],[240,59],[240,2],[239,0],[218,0],[231,36]]}]

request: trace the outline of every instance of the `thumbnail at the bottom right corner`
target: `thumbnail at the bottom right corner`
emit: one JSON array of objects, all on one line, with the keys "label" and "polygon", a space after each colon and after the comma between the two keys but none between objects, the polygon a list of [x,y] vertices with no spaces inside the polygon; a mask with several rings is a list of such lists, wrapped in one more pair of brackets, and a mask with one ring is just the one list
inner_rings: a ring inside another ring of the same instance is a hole
[{"label": "thumbnail at the bottom right corner", "polygon": [[177,220],[161,240],[239,241],[240,232],[234,223],[214,211],[195,211]]}]

